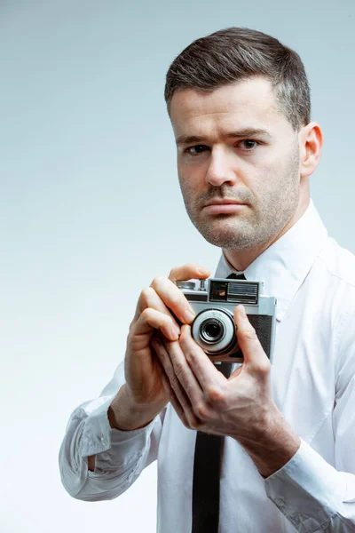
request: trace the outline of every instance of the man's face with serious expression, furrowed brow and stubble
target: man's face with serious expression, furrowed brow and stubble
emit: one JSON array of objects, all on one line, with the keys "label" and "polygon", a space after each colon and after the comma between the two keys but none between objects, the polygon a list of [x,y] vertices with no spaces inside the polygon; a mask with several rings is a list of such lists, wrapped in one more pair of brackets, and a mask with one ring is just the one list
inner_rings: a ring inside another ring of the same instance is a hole
[{"label": "man's face with serious expression, furrowed brow and stubble", "polygon": [[271,83],[177,91],[170,117],[186,211],[201,235],[231,251],[271,243],[295,214],[300,185],[298,134]]}]

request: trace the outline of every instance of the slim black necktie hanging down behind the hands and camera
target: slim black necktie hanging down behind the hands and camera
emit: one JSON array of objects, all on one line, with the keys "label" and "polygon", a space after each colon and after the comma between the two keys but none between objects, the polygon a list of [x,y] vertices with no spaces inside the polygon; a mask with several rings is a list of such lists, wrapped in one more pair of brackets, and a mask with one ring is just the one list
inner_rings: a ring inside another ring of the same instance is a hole
[{"label": "slim black necktie hanging down behind the hands and camera", "polygon": [[[227,279],[245,280],[244,274],[230,274]],[[216,366],[229,378],[232,365]],[[198,431],[193,461],[193,529],[192,533],[217,533],[219,525],[219,481],[224,437]]]}]

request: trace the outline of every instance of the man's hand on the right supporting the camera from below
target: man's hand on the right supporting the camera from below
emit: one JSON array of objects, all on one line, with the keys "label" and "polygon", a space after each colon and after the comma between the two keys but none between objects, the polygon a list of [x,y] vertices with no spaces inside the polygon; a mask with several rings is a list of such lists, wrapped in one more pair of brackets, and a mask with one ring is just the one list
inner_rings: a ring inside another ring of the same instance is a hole
[{"label": "man's hand on the right supporting the camera from below", "polygon": [[177,341],[153,339],[170,402],[186,427],[231,436],[247,449],[260,473],[285,465],[300,440],[272,402],[271,364],[243,306],[234,312],[244,362],[225,378],[184,325]]}]

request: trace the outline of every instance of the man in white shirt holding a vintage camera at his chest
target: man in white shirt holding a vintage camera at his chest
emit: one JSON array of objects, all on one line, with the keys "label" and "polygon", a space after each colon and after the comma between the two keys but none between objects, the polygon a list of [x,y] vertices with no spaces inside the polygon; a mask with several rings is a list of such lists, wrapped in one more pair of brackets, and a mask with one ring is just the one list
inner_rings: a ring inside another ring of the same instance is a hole
[{"label": "man in white shirt holding a vintage camera at his chest", "polygon": [[175,284],[209,272],[155,278],[124,368],[69,420],[63,484],[111,499],[157,459],[158,529],[187,533],[199,430],[225,437],[221,533],[355,531],[355,259],[310,200],[322,132],[304,65],[271,36],[229,28],[173,61],[165,99],[186,211],[223,251],[216,277],[242,272],[277,298],[272,362],[237,306],[244,362],[226,378],[193,341]]}]

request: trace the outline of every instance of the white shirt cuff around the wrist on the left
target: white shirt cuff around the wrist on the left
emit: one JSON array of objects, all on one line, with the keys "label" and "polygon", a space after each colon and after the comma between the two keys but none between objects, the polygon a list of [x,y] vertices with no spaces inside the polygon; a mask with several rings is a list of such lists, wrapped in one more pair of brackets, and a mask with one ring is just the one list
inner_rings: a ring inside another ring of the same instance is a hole
[{"label": "white shirt cuff around the wrist on the left", "polygon": [[100,396],[83,407],[87,418],[83,426],[82,457],[105,452],[111,449],[114,444],[127,443],[132,448],[133,442],[137,441],[138,448],[140,448],[141,441],[146,442],[147,435],[151,433],[155,418],[147,426],[140,429],[131,431],[113,429],[108,421],[107,411],[114,396],[115,394]]}]

